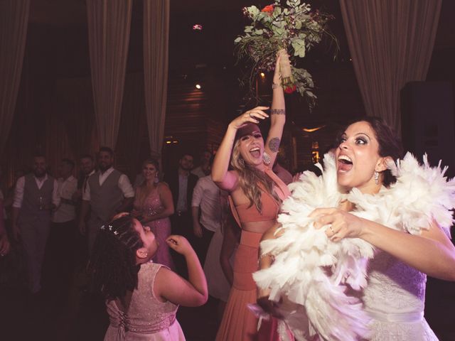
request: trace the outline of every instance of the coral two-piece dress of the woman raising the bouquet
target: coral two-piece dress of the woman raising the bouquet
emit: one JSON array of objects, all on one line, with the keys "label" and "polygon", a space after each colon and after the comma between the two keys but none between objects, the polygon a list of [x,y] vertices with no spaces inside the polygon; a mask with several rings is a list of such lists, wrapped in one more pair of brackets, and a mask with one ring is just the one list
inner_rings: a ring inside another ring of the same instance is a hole
[{"label": "coral two-piece dress of the woman raising the bouquet", "polygon": [[[270,172],[270,173],[269,173]],[[291,193],[282,180],[272,171],[266,171],[274,183],[277,195],[284,199]],[[271,174],[272,173],[272,174]],[[262,190],[261,195],[262,213],[255,205],[237,205],[235,207],[240,220],[240,226],[245,222],[263,222],[276,220],[279,213],[279,204],[272,195]],[[277,334],[271,325],[261,328],[257,332],[257,318],[247,307],[250,303],[256,303],[257,287],[252,274],[257,271],[259,258],[259,242],[262,233],[249,232],[242,229],[240,244],[235,253],[234,281],[230,289],[228,303],[226,304],[223,320],[216,335],[216,341],[256,341],[276,340]],[[262,322],[264,324],[264,321]],[[272,328],[272,330],[271,330]]]}]

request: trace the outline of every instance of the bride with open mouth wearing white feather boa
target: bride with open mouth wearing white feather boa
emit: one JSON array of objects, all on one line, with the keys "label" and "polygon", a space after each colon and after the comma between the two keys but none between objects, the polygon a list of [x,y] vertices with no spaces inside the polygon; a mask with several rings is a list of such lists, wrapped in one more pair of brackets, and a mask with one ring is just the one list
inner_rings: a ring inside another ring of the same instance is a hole
[{"label": "bride with open mouth wearing white feather boa", "polygon": [[392,130],[366,117],[346,127],[321,177],[290,186],[282,224],[261,242],[274,261],[254,276],[296,340],[437,340],[425,283],[455,281],[455,180],[401,157]]}]

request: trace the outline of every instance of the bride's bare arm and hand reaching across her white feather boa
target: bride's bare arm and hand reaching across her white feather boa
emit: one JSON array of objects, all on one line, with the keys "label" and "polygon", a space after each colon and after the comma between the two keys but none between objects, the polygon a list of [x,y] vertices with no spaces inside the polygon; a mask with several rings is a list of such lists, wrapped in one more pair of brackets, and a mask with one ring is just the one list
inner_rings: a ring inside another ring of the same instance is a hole
[{"label": "bride's bare arm and hand reaching across her white feather boa", "polygon": [[318,217],[315,227],[331,224],[334,233],[328,228],[326,234],[334,242],[358,237],[424,274],[455,281],[455,247],[437,222],[421,235],[413,235],[335,208],[314,210],[310,217]]}]

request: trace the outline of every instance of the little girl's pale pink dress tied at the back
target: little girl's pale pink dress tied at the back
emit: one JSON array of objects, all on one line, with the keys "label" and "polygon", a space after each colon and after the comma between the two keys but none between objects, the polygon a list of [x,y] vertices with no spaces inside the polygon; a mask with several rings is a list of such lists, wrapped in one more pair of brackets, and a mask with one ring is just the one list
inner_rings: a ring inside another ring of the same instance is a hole
[{"label": "little girl's pale pink dress tied at the back", "polygon": [[154,295],[155,276],[161,264],[141,265],[138,286],[133,291],[127,313],[115,301],[106,303],[109,328],[105,341],[184,341],[176,313],[178,305],[161,302]]}]

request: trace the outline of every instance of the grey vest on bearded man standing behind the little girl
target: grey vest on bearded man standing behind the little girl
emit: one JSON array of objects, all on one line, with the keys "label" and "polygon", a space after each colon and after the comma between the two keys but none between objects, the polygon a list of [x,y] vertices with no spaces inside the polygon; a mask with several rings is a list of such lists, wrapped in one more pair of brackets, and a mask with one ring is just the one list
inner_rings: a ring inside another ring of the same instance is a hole
[{"label": "grey vest on bearded man standing behind the little girl", "polygon": [[94,173],[88,178],[90,186],[91,219],[107,222],[123,201],[123,193],[119,188],[119,178],[122,173],[114,169],[100,186],[100,173]]}]

